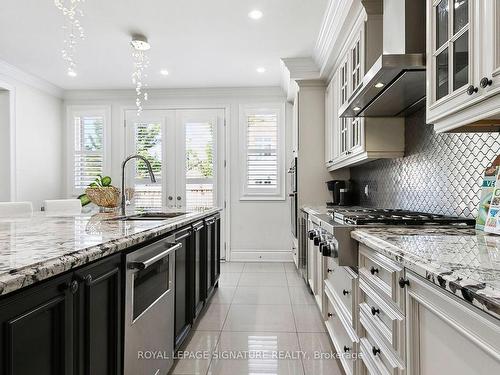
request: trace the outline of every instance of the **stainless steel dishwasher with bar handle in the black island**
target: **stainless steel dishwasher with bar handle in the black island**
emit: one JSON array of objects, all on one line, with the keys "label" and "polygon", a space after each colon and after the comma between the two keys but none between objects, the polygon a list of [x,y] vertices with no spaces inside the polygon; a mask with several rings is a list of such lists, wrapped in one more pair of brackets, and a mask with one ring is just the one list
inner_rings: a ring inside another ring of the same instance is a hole
[{"label": "stainless steel dishwasher with bar handle in the black island", "polygon": [[174,350],[173,236],[126,256],[125,375],[166,375]]}]

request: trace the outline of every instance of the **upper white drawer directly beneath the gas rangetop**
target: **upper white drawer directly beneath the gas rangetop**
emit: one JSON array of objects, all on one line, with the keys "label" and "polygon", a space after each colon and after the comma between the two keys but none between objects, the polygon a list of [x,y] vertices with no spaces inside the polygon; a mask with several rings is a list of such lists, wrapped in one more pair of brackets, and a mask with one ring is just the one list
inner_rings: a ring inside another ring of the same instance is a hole
[{"label": "upper white drawer directly beneath the gas rangetop", "polygon": [[333,272],[327,272],[326,285],[336,294],[336,300],[341,303],[344,313],[353,320],[354,303],[356,299],[357,276],[349,267],[337,267]]}]

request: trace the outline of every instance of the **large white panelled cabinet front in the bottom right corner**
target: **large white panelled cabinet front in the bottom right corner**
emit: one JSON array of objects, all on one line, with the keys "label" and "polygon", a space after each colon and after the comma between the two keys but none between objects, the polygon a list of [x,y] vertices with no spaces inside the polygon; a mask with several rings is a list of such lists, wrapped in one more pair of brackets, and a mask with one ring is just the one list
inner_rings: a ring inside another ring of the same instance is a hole
[{"label": "large white panelled cabinet front in the bottom right corner", "polygon": [[500,324],[407,271],[407,374],[500,373]]}]

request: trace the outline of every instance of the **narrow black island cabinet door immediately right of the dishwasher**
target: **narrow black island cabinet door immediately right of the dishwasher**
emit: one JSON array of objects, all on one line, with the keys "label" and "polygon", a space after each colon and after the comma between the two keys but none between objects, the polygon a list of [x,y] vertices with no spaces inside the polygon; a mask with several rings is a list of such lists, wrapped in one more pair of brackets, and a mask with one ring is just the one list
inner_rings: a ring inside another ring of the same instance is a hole
[{"label": "narrow black island cabinet door immediately right of the dishwasher", "polygon": [[177,349],[188,335],[193,322],[194,256],[190,228],[175,233],[182,247],[175,252],[175,343]]}]

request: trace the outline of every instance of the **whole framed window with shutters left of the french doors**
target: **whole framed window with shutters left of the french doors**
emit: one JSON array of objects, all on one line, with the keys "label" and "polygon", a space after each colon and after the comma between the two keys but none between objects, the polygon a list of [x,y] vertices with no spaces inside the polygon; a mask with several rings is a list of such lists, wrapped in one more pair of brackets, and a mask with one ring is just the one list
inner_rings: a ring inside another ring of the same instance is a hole
[{"label": "whole framed window with shutters left of the french doors", "polygon": [[106,126],[104,109],[68,109],[70,191],[81,194],[97,176],[106,174]]}]

